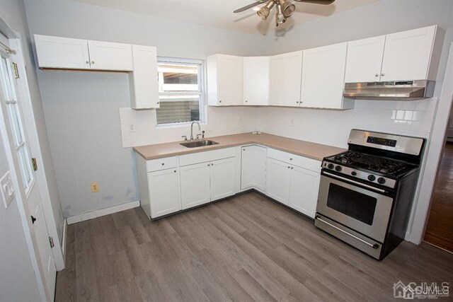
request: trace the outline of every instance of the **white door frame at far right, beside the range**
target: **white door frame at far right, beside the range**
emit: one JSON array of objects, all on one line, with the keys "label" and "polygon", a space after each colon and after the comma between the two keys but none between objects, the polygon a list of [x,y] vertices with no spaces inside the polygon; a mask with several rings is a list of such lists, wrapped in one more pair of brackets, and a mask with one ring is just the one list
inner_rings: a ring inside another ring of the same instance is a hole
[{"label": "white door frame at far right, beside the range", "polygon": [[[414,203],[415,214],[411,221],[412,228],[408,238],[412,243],[419,245],[428,222],[430,206],[435,188],[435,181],[439,171],[440,161],[442,160],[443,149],[447,141],[447,124],[453,103],[453,42],[449,47],[447,68],[442,83],[442,91],[437,101],[435,119],[432,124],[430,143],[427,145],[427,156],[423,165],[422,178],[418,186],[418,198]],[[430,168],[426,168],[430,167]],[[411,226],[410,224],[410,226]]]}]

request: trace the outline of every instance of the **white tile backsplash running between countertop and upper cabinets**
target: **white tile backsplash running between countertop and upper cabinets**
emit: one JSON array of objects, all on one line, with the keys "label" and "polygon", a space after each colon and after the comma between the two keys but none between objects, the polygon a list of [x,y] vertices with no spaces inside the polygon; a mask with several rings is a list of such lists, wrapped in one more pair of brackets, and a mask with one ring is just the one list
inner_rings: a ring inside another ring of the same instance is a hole
[{"label": "white tile backsplash running between countertop and upper cabinets", "polygon": [[[348,146],[352,128],[429,137],[437,98],[426,100],[356,100],[352,110],[278,107],[207,107],[206,137],[261,131],[319,144]],[[156,127],[154,110],[120,108],[122,146],[180,141],[190,127]],[[130,132],[133,122],[135,132]]]}]

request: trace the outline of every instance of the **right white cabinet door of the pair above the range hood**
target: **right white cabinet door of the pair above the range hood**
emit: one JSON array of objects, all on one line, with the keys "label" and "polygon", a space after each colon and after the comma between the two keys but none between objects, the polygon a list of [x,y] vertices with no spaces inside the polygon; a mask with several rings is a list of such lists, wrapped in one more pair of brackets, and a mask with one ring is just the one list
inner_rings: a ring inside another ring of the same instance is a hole
[{"label": "right white cabinet door of the pair above the range hood", "polygon": [[386,35],[381,81],[428,78],[436,26]]}]

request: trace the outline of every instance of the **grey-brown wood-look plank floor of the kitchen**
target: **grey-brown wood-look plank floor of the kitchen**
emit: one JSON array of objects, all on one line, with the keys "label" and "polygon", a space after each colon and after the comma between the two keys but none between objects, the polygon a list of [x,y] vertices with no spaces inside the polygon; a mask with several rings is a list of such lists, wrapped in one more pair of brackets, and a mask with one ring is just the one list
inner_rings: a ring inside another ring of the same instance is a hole
[{"label": "grey-brown wood-look plank floor of the kitchen", "polygon": [[447,252],[403,242],[378,262],[256,192],[73,224],[66,261],[56,301],[393,301],[398,280],[453,281]]}]

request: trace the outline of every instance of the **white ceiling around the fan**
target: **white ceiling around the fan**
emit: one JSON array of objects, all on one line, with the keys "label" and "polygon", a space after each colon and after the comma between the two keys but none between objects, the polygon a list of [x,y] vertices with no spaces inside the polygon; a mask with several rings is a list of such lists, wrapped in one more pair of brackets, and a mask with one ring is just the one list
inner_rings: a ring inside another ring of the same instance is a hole
[{"label": "white ceiling around the fan", "polygon": [[[265,35],[274,30],[290,28],[296,24],[331,16],[333,13],[370,4],[379,0],[336,0],[333,4],[319,5],[294,2],[296,11],[286,23],[277,28],[274,14],[261,21],[256,12],[248,9],[233,13],[237,8],[253,3],[254,0],[74,0],[85,4],[116,8],[122,11],[144,13],[161,18],[197,23],[236,30],[243,33]],[[263,4],[260,4],[263,6]],[[274,8],[275,9],[275,8]]]}]

